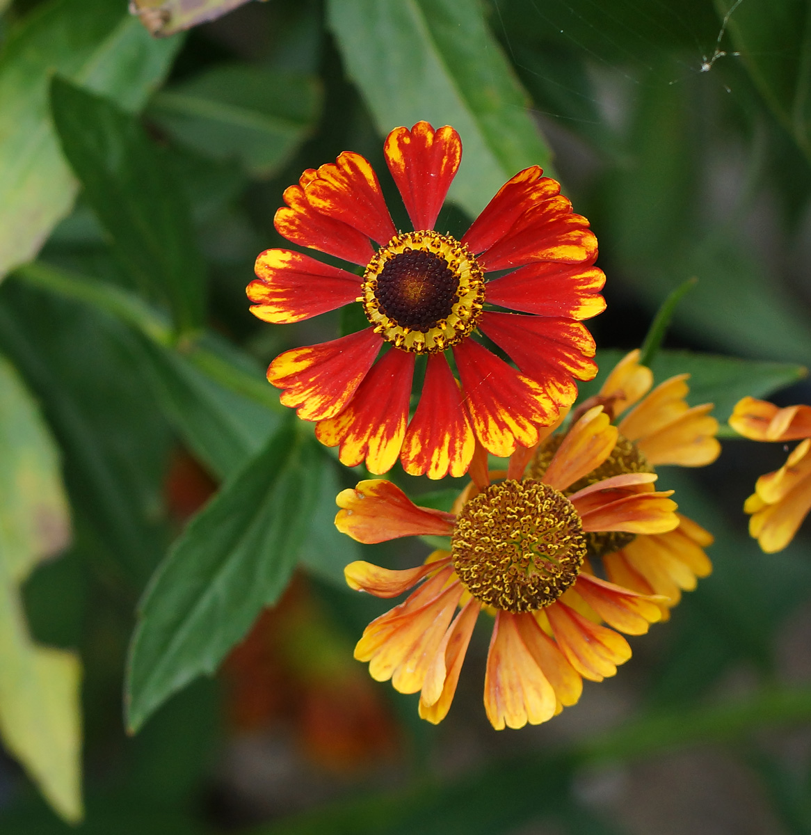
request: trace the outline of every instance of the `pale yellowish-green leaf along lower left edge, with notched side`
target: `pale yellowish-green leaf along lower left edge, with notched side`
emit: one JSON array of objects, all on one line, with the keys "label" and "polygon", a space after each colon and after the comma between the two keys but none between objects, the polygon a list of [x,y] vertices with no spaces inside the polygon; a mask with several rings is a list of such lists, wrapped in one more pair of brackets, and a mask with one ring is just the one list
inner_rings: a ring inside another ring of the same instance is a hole
[{"label": "pale yellowish-green leaf along lower left edge, with notched side", "polygon": [[19,585],[68,543],[56,446],[13,367],[0,358],[0,736],[53,808],[82,817],[78,658],[33,643]]}]

